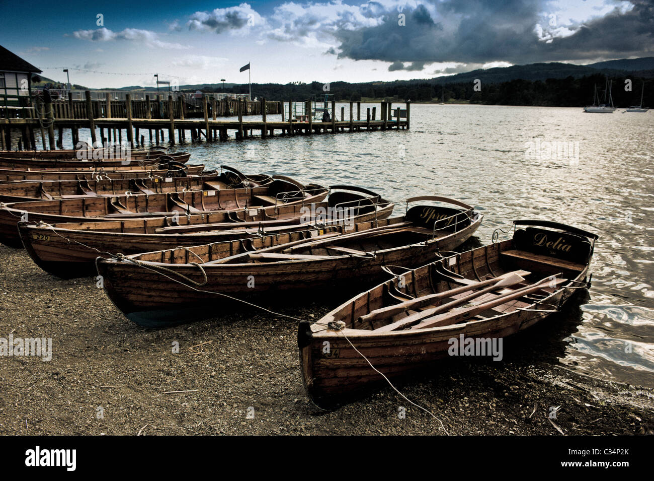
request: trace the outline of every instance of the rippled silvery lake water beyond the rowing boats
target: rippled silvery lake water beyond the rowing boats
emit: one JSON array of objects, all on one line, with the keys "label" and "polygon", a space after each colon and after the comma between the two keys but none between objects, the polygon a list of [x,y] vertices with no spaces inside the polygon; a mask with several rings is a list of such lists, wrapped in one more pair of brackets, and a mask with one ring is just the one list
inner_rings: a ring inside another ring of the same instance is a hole
[{"label": "rippled silvery lake water beyond the rowing boats", "polygon": [[[551,158],[543,142],[572,149]],[[555,353],[553,362],[581,374],[654,386],[654,112],[414,104],[407,131],[231,139],[183,149],[209,167],[359,185],[391,200],[453,196],[485,214],[478,245],[519,218],[596,232],[589,296],[545,321],[557,329],[530,339],[533,355]]]}]

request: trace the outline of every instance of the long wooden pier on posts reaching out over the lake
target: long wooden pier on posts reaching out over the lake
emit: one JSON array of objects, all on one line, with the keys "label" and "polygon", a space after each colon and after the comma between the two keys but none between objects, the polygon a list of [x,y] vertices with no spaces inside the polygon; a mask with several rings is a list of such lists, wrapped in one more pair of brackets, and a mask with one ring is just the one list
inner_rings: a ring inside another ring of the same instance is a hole
[{"label": "long wooden pier on posts reaching out over the lake", "polygon": [[[34,132],[40,130],[43,149],[49,147],[50,150],[54,150],[57,147],[63,148],[64,129],[71,129],[73,147],[80,141],[80,128],[90,129],[94,143],[127,141],[132,146],[145,145],[145,131],[147,131],[147,141],[151,145],[163,142],[175,145],[186,141],[186,132],[189,132],[190,141],[226,141],[230,137],[230,131],[236,139],[250,138],[254,132],[259,132],[260,137],[280,134],[372,132],[408,129],[410,118],[409,102],[406,102],[405,108],[402,109],[396,107],[398,104],[382,101],[379,104],[379,118],[377,118],[377,107],[366,108],[362,116],[361,102],[350,101],[349,115],[346,116],[345,107],[341,107],[339,120],[336,118],[336,101],[331,101],[331,111],[334,115],[328,122],[317,122],[312,115],[298,118],[292,115],[292,105],[294,105],[292,102],[288,102],[288,111],[285,111],[284,103],[265,99],[256,102],[243,99],[228,101],[233,103],[233,105],[226,103],[226,108],[237,116],[234,120],[217,120],[220,116],[218,103],[223,101],[216,101],[216,99],[209,101],[207,97],[203,98],[202,102],[202,118],[185,118],[183,103],[173,101],[170,96],[166,101],[157,99],[150,102],[148,98],[145,101],[134,101],[128,95],[125,100],[116,101],[107,98],[106,101],[99,102],[92,101],[90,92],[86,91],[84,105],[72,102],[69,99],[66,107],[55,107],[56,102],[37,102],[33,109],[27,109],[27,112],[35,115],[24,115],[23,118],[9,116],[0,118],[0,150],[10,150],[12,130],[19,132],[19,149],[37,149]],[[104,105],[101,105],[102,103]],[[295,103],[296,106],[297,104]],[[305,112],[310,112],[311,102],[304,102],[303,107]],[[281,120],[267,120],[267,115],[271,113],[281,113]],[[262,118],[243,120],[247,115],[261,115]],[[55,139],[55,131],[58,133],[57,139]],[[175,132],[177,132],[177,139]]]}]

